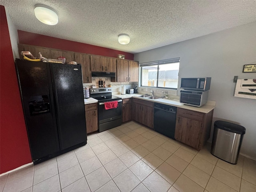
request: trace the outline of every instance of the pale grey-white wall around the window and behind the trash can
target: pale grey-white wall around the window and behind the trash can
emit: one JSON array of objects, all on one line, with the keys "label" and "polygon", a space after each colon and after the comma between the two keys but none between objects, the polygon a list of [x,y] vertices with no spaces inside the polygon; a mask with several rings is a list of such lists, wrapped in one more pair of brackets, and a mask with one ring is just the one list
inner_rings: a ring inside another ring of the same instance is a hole
[{"label": "pale grey-white wall around the window and behind the trash can", "polygon": [[256,22],[141,52],[134,60],[176,57],[180,57],[179,84],[184,76],[212,77],[208,100],[216,101],[213,124],[226,120],[244,126],[240,152],[256,159],[256,100],[234,97],[233,82],[234,76],[256,78],[255,72],[242,73],[243,65],[256,62]]}]

